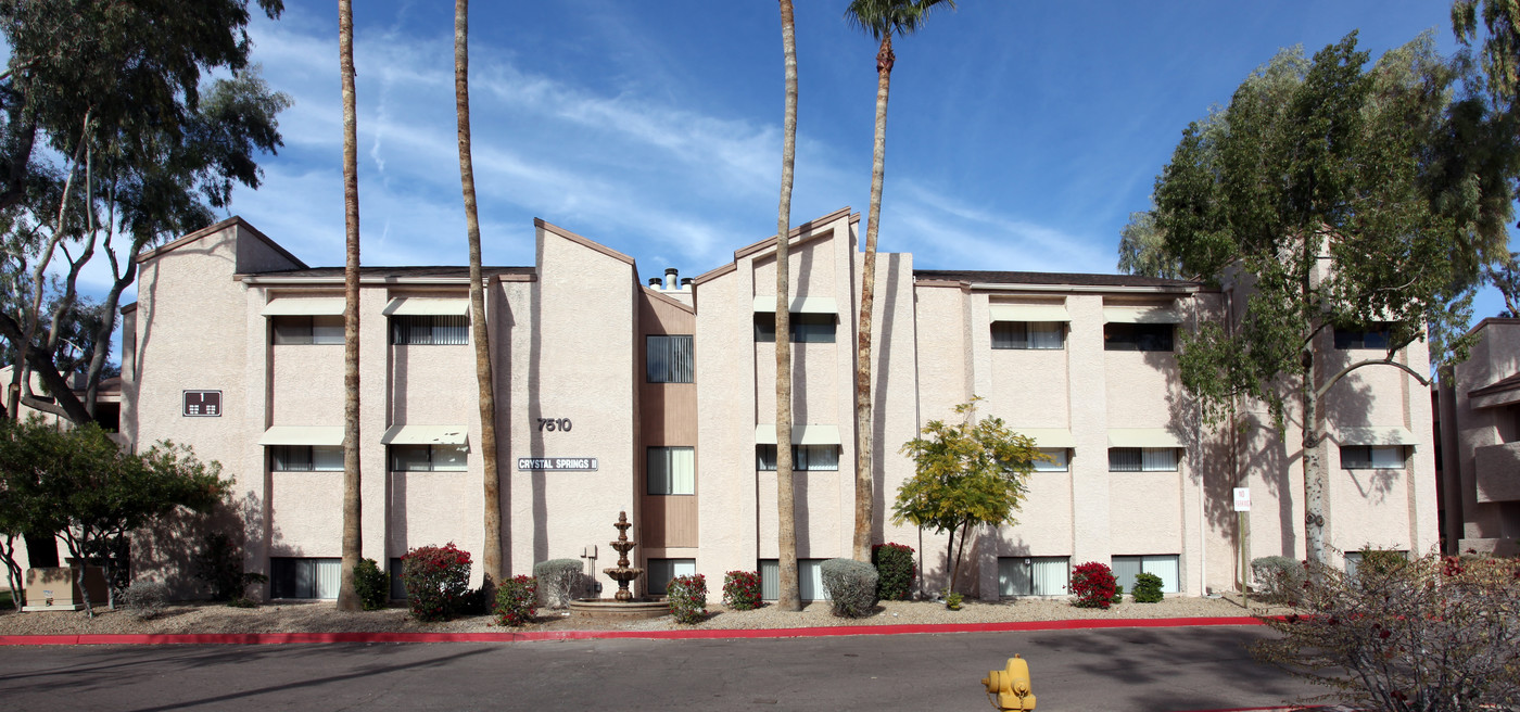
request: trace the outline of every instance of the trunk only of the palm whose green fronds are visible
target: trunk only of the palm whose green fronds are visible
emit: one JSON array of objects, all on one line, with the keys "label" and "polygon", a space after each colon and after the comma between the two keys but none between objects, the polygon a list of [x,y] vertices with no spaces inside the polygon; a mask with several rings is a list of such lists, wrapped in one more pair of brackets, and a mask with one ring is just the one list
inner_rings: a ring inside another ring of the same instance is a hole
[{"label": "trunk only of the palm whose green fronds are visible", "polygon": [[876,143],[871,149],[871,208],[865,225],[865,269],[860,275],[860,332],[856,340],[856,528],[854,559],[871,560],[871,310],[876,304],[876,235],[882,222],[882,181],[886,175],[886,96],[892,83],[892,33],[876,53]]}]

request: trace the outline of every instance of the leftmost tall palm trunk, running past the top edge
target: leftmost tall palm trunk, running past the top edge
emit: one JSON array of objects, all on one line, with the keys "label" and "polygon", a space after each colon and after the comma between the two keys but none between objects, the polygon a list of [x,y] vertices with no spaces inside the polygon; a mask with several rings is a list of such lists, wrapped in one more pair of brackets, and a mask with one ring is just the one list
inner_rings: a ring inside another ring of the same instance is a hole
[{"label": "leftmost tall palm trunk, running past the top edge", "polygon": [[354,566],[362,548],[359,502],[359,137],[354,109],[354,9],[337,0],[337,55],[344,77],[344,568],[337,610],[359,610]]}]

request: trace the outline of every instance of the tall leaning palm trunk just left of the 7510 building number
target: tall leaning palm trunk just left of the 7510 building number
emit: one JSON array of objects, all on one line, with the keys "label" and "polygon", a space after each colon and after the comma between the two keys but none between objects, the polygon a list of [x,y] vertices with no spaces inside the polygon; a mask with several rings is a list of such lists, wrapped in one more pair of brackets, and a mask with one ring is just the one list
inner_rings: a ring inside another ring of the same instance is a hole
[{"label": "tall leaning palm trunk just left of the 7510 building number", "polygon": [[485,468],[485,584],[502,580],[502,498],[496,469],[496,390],[491,384],[491,342],[480,284],[480,217],[476,214],[474,164],[470,158],[470,0],[454,0],[454,112],[459,117],[459,182],[465,194],[470,240],[470,326],[474,331],[476,384],[480,389],[480,463]]}]

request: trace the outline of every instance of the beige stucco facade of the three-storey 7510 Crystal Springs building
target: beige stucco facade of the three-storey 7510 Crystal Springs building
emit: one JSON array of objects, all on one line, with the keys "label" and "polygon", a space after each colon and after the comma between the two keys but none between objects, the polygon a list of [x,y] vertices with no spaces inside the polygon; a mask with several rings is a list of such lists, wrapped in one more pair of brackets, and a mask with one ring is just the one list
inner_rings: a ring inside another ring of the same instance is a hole
[{"label": "beige stucco facade of the three-storey 7510 Crystal Springs building", "polygon": [[[851,548],[857,223],[842,210],[790,235],[793,328],[810,329],[793,337],[793,443],[810,462],[795,475],[804,562]],[[310,269],[239,219],[144,255],[141,270],[123,334],[123,436],[187,442],[223,465],[251,571],[339,557],[342,472],[313,463],[342,433],[342,345],[318,334],[340,314],[342,270]],[[777,446],[774,339],[786,337],[765,326],[775,238],[686,284],[670,275],[646,287],[629,257],[540,220],[534,266],[485,273],[506,568],[584,557],[600,571],[626,510],[652,575],[695,571],[716,588],[725,571],[766,571],[778,557],[765,465]],[[365,267],[360,291],[363,556],[391,562],[445,542],[479,553],[473,348],[448,331],[464,314],[465,269]],[[1303,557],[1294,427],[1280,437],[1242,405],[1246,427],[1211,430],[1178,380],[1173,336],[1228,322],[1233,308],[1228,291],[1195,282],[917,270],[909,254],[882,254],[872,537],[912,545],[923,591],[944,588],[945,536],[891,522],[914,474],[900,448],[980,396],[979,414],[1031,434],[1061,466],[1031,475],[1015,525],[971,534],[958,589],[1059,595],[1061,572],[1088,560],[1160,571],[1176,594],[1231,589],[1240,486],[1252,498],[1248,556]],[[309,331],[292,340],[292,328]],[[1426,369],[1423,351],[1400,358]],[[1336,389],[1344,445],[1363,445],[1353,433],[1412,436],[1397,465],[1377,469],[1342,469],[1330,446],[1332,545],[1433,545],[1429,398],[1371,369]],[[216,414],[188,411],[202,392],[217,393]],[[274,586],[266,594],[328,591]]]}]

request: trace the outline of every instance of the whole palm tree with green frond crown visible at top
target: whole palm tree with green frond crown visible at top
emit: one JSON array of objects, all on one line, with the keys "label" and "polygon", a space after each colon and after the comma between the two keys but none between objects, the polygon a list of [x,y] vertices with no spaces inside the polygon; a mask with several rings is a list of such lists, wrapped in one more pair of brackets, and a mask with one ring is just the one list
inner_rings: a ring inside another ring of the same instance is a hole
[{"label": "whole palm tree with green frond crown visible at top", "polygon": [[876,229],[882,217],[886,173],[886,96],[892,83],[892,35],[907,36],[938,6],[955,0],[851,0],[845,21],[882,43],[876,53],[876,144],[871,150],[871,210],[865,225],[865,270],[860,276],[860,331],[856,337],[856,528],[854,557],[871,560],[871,307],[876,301]]}]

